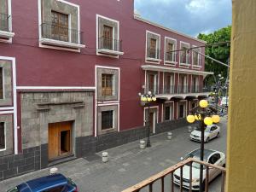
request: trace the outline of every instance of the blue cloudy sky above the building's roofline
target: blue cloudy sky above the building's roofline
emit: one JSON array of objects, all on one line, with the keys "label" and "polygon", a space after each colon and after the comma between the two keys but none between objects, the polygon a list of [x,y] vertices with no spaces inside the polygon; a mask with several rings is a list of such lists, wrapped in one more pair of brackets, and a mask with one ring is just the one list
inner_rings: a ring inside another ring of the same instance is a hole
[{"label": "blue cloudy sky above the building's roofline", "polygon": [[231,0],[135,0],[143,18],[196,37],[231,24]]}]

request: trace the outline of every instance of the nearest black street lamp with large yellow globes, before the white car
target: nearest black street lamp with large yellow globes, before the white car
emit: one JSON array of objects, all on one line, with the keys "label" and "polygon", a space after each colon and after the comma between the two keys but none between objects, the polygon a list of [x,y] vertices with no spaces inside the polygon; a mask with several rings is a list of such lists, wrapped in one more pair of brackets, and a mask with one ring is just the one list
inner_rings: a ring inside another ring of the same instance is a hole
[{"label": "nearest black street lamp with large yellow globes, before the white car", "polygon": [[[215,115],[217,109],[208,106],[207,100],[201,100],[199,106],[192,108],[190,114],[187,116],[189,123],[194,123],[195,120],[199,120],[201,123],[201,155],[200,160],[204,160],[204,148],[205,148],[205,129],[206,125],[212,125],[212,123],[219,122],[219,116]],[[200,166],[200,192],[203,192],[203,165]]]}]

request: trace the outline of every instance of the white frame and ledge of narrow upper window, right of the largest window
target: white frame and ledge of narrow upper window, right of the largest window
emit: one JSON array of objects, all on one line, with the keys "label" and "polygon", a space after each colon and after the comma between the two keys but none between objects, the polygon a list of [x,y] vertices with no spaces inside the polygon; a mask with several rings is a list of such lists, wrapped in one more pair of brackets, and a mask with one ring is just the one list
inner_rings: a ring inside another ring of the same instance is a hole
[{"label": "white frame and ledge of narrow upper window, right of the largest window", "polygon": [[[117,51],[117,50],[110,50],[110,49],[99,49],[99,18],[102,18],[103,20],[110,20],[111,22],[114,22],[117,24],[117,41],[119,42],[119,20],[113,20],[111,18],[108,18],[106,16],[98,15],[96,14],[96,55],[102,55],[102,56],[108,56],[111,58],[119,58],[119,55],[124,55],[124,52]],[[114,46],[114,27],[113,27],[113,46]]]}]

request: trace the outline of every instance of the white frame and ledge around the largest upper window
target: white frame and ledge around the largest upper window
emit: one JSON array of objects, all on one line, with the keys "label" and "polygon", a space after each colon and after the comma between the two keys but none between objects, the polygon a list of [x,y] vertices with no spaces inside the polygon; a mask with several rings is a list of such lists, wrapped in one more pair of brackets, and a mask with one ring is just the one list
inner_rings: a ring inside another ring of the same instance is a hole
[{"label": "white frame and ledge around the largest upper window", "polygon": [[[68,32],[68,40],[69,42],[64,42],[60,40],[55,40],[51,38],[44,38],[42,36],[42,1],[44,0],[38,0],[38,35],[39,35],[39,47],[41,48],[48,48],[48,49],[59,49],[59,50],[68,50],[68,51],[73,51],[73,52],[80,52],[80,49],[84,48],[85,45],[81,44],[80,42],[80,6],[78,4],[70,3],[65,0],[55,0],[61,3],[68,4],[70,6],[76,7],[78,9],[78,38],[79,38],[79,44],[75,44],[70,42],[71,40],[71,32],[69,30]],[[57,11],[59,12],[59,11]],[[60,12],[61,13],[61,12]],[[67,13],[64,13],[67,14]],[[68,15],[68,29],[71,26],[71,15]],[[63,46],[63,47],[61,47]]]}]

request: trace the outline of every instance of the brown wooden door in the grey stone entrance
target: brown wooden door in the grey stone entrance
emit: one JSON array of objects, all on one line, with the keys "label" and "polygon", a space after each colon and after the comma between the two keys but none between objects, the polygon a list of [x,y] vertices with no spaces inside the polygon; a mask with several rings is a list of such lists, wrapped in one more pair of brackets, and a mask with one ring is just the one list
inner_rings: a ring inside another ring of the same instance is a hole
[{"label": "brown wooden door in the grey stone entrance", "polygon": [[49,124],[48,159],[56,160],[73,154],[72,121]]}]

